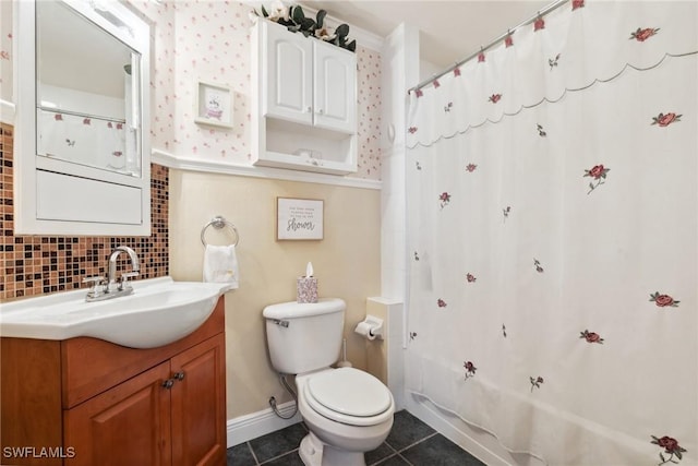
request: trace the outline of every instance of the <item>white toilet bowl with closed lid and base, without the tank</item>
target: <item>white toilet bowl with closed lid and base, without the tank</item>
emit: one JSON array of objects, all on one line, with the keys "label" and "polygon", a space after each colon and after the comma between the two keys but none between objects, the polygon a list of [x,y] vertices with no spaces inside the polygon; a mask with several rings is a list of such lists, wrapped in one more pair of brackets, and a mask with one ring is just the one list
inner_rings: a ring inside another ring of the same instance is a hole
[{"label": "white toilet bowl with closed lid and base, without the tank", "polygon": [[363,454],[390,433],[395,402],[373,375],[353,368],[296,378],[301,417],[310,433],[299,454],[306,466],[365,466]]}]

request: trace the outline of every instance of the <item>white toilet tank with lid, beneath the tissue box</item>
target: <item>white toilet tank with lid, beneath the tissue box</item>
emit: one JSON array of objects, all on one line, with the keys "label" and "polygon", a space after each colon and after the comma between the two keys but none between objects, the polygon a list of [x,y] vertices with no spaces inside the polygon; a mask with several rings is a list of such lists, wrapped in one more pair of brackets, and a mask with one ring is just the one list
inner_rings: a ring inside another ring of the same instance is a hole
[{"label": "white toilet tank with lid, beneath the tissue box", "polygon": [[264,308],[266,340],[277,372],[298,374],[339,359],[347,304],[337,298],[313,303],[282,302]]}]

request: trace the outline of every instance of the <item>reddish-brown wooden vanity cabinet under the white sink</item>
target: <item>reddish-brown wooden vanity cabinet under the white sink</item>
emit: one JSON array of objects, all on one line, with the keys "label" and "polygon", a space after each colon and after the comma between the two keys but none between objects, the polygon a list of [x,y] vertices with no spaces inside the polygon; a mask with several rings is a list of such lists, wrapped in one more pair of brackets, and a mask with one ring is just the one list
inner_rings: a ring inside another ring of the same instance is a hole
[{"label": "reddish-brown wooden vanity cabinet under the white sink", "polygon": [[220,298],[158,348],[2,338],[0,463],[225,465],[224,326]]}]

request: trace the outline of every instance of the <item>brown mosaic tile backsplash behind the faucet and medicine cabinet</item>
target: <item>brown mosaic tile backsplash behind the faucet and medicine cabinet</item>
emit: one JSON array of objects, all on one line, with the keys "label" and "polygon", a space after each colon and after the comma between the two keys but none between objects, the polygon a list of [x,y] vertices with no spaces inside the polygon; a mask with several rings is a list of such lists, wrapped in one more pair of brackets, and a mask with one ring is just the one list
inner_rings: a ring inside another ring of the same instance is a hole
[{"label": "brown mosaic tile backsplash behind the faucet and medicine cabinet", "polygon": [[[62,237],[14,235],[13,128],[0,124],[0,301],[86,287],[83,278],[106,275],[111,251],[133,248],[141,260],[136,279],[169,274],[169,170],[151,166],[149,237]],[[122,255],[123,256],[123,255]],[[129,267],[128,260],[118,267]]]}]

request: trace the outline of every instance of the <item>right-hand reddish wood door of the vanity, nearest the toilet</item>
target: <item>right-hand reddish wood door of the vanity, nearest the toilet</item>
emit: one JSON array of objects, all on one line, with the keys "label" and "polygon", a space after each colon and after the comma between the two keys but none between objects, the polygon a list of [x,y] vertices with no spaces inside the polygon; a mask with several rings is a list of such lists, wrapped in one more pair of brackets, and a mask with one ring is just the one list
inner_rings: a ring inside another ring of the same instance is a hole
[{"label": "right-hand reddish wood door of the vanity, nearest the toilet", "polygon": [[171,359],[173,465],[226,462],[225,344],[218,334]]}]

